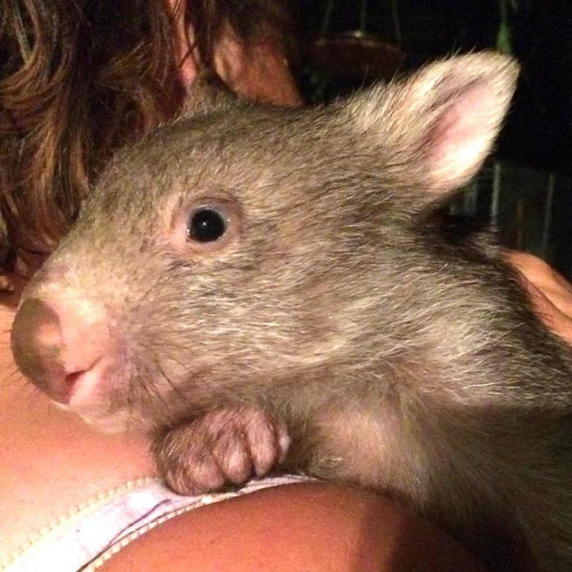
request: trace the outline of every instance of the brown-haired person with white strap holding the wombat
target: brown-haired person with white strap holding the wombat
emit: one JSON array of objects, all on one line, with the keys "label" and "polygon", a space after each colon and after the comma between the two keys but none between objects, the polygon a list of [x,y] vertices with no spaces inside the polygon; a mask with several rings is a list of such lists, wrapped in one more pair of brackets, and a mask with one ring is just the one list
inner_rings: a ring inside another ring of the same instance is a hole
[{"label": "brown-haired person with white strap holding the wombat", "polygon": [[[0,570],[484,570],[369,491],[284,476],[244,494],[169,494],[143,436],[95,433],[13,364],[21,288],[113,150],[171,117],[202,66],[244,97],[300,103],[280,4],[12,1],[0,25]],[[507,256],[544,321],[572,343],[571,287],[534,257]],[[100,535],[107,544],[91,547]]]}]

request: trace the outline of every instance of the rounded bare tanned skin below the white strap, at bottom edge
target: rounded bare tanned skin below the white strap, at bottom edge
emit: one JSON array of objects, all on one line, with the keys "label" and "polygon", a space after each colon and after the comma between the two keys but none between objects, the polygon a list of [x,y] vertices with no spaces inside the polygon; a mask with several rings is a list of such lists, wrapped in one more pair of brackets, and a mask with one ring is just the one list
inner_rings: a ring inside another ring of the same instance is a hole
[{"label": "rounded bare tanned skin below the white strap, at bottom edge", "polygon": [[102,572],[484,572],[450,537],[381,496],[319,483],[263,489],[150,530]]}]

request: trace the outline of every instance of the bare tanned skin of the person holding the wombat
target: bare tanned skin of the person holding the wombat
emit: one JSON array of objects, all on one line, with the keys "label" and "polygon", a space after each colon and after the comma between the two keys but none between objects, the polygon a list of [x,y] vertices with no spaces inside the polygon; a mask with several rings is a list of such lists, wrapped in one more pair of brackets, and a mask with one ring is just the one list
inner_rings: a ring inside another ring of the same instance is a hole
[{"label": "bare tanned skin of the person holding the wombat", "polygon": [[[179,49],[186,53],[184,42]],[[287,61],[270,42],[247,48],[226,37],[215,66],[242,95],[279,105],[299,103]],[[195,73],[191,53],[181,68],[186,85]],[[536,258],[508,256],[544,321],[572,342],[570,286]],[[16,298],[5,295],[0,306],[0,562],[26,537],[87,499],[155,474],[143,436],[95,433],[16,372],[9,349]],[[416,566],[482,569],[403,506],[367,491],[316,483],[259,491],[173,518],[119,552],[104,569],[335,572]]]}]

